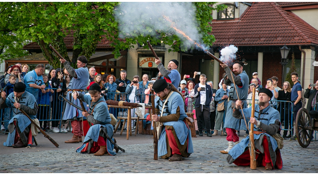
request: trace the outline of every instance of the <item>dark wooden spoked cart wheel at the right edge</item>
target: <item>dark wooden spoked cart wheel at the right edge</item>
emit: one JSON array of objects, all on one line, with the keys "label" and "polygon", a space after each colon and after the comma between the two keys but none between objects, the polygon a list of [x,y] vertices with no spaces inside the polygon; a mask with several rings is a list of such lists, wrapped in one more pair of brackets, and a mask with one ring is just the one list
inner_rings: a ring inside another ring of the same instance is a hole
[{"label": "dark wooden spoked cart wheel at the right edge", "polygon": [[307,148],[311,141],[311,133],[312,130],[308,130],[307,127],[311,127],[311,118],[308,114],[306,108],[301,108],[297,112],[296,116],[296,137],[298,140],[299,145],[303,148]]}]

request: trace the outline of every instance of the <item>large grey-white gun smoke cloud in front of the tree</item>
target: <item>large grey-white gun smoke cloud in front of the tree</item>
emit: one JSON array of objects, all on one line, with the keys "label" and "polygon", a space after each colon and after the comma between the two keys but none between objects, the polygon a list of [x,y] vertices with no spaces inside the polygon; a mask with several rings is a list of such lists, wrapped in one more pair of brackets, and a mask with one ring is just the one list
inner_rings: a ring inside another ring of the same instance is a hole
[{"label": "large grey-white gun smoke cloud in front of the tree", "polygon": [[[138,35],[161,38],[176,34],[186,48],[202,43],[196,20],[196,6],[191,2],[123,2],[116,7],[121,38]],[[190,38],[190,39],[189,39]]]}]

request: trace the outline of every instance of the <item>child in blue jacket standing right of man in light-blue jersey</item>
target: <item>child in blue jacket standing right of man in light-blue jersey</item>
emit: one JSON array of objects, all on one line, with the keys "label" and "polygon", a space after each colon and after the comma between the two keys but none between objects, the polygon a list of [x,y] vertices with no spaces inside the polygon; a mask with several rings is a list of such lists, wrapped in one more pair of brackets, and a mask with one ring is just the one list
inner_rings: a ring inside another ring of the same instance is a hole
[{"label": "child in blue jacket standing right of man in light-blue jersey", "polygon": [[[48,84],[49,78],[47,77],[46,74],[42,75],[43,81],[45,83],[45,88],[51,88],[50,84]],[[38,114],[37,118],[40,122],[40,127],[42,127],[42,122],[41,120],[46,120],[47,116],[50,118],[50,98],[51,95],[54,93],[52,89],[46,89],[45,93],[42,93],[42,91],[39,91],[38,95]],[[47,122],[44,121],[44,126],[43,126],[43,131],[48,132],[47,128]]]}]

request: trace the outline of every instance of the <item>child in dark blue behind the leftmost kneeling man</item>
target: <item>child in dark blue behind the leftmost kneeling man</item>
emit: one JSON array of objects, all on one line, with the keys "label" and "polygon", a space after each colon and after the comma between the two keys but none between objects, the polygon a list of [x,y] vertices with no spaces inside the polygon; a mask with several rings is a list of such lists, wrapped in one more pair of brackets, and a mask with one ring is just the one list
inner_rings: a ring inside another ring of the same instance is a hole
[{"label": "child in dark blue behind the leftmost kneeling man", "polygon": [[[13,86],[14,86],[14,84],[16,83],[16,79],[17,79],[17,76],[16,75],[14,75],[14,74],[11,74],[10,76],[9,76],[9,82],[7,83],[7,84],[5,84],[5,88],[6,88],[6,93],[7,93],[7,95],[9,95],[10,93],[12,93],[13,92]],[[12,116],[13,116],[13,111],[12,111],[12,109],[11,108],[5,108],[4,109],[4,121],[9,121],[9,120],[11,120],[11,118],[12,118]],[[6,132],[9,132],[9,130],[8,130],[8,125],[9,125],[9,122],[4,122],[4,130],[6,131]]]}]

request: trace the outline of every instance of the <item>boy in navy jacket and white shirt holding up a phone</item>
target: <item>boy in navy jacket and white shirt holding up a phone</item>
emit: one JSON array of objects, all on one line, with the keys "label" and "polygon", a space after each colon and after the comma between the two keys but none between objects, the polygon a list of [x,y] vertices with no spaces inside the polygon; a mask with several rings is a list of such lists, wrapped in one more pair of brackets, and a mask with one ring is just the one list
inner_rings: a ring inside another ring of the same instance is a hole
[{"label": "boy in navy jacket and white shirt holding up a phone", "polygon": [[196,98],[195,109],[197,116],[197,125],[199,130],[199,136],[203,136],[203,120],[205,123],[205,130],[208,137],[211,135],[210,124],[210,102],[212,100],[213,92],[211,86],[206,84],[206,75],[200,75],[200,83],[194,87],[194,98]]}]

